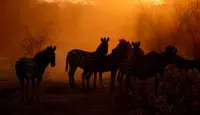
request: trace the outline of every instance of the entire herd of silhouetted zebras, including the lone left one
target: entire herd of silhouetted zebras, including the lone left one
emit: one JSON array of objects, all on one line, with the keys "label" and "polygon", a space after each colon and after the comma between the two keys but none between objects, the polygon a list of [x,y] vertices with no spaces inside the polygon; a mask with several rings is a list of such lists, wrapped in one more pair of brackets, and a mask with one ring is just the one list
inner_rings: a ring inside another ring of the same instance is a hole
[{"label": "entire herd of silhouetted zebras, including the lone left one", "polygon": [[[74,74],[78,67],[84,71],[82,73],[82,87],[85,87],[85,80],[87,80],[87,87],[89,88],[89,80],[94,73],[94,87],[96,87],[96,76],[99,73],[100,84],[102,87],[102,73],[111,72],[110,91],[114,90],[115,78],[119,82],[119,89],[122,88],[123,77],[126,77],[127,87],[131,90],[130,77],[134,76],[142,81],[156,74],[162,74],[164,68],[168,64],[176,64],[180,69],[198,68],[200,70],[200,63],[198,60],[187,60],[177,55],[176,47],[168,45],[163,52],[151,51],[144,54],[140,48],[140,42],[130,43],[127,40],[120,39],[118,45],[108,53],[108,42],[110,38],[101,38],[101,43],[94,52],[87,52],[80,49],[73,49],[68,52],[66,56],[66,72],[69,76],[69,86],[76,87]],[[30,81],[33,85],[33,93],[31,98],[40,99],[39,86],[42,81],[43,73],[51,64],[55,63],[56,46],[49,46],[46,49],[38,52],[33,58],[20,58],[16,61],[15,70],[21,85],[21,96],[24,100],[29,99],[28,87]],[[69,70],[68,70],[69,67]],[[118,72],[118,74],[117,74]],[[25,87],[26,80],[26,87]],[[37,82],[35,82],[37,80]],[[36,84],[35,84],[36,83]],[[35,90],[36,85],[36,90]],[[155,93],[157,94],[158,79],[155,78]],[[163,86],[164,87],[164,86]],[[27,89],[25,92],[25,88]]]}]

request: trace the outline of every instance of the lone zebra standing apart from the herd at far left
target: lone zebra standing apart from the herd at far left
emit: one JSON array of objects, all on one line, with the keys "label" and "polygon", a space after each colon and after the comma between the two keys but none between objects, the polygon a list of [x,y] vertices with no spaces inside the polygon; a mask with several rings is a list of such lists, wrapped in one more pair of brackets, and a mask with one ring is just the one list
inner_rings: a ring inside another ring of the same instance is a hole
[{"label": "lone zebra standing apart from the herd at far left", "polygon": [[[40,99],[39,97],[39,89],[40,89],[40,83],[42,81],[42,76],[44,74],[44,71],[46,67],[51,64],[52,67],[55,67],[55,50],[56,46],[52,47],[49,46],[46,49],[38,52],[35,54],[33,58],[27,58],[22,57],[17,59],[15,63],[15,71],[17,78],[19,80],[19,83],[21,85],[21,100],[24,101],[25,96],[25,80],[26,80],[26,99],[29,100],[29,83],[32,82],[32,96],[31,99],[34,98],[36,93],[37,100]],[[35,79],[37,79],[36,82],[36,91],[35,91]]]}]

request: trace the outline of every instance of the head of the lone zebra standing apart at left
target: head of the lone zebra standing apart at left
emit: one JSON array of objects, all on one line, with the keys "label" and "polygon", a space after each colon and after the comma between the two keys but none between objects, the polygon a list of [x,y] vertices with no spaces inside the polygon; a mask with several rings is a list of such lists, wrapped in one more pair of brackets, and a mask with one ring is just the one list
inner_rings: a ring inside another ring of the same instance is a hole
[{"label": "head of the lone zebra standing apart at left", "polygon": [[55,67],[56,65],[56,54],[55,54],[56,46],[52,47],[49,46],[46,48],[46,61],[47,63],[50,63],[52,67]]}]

